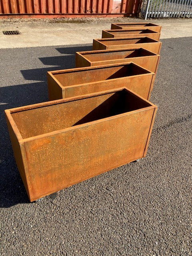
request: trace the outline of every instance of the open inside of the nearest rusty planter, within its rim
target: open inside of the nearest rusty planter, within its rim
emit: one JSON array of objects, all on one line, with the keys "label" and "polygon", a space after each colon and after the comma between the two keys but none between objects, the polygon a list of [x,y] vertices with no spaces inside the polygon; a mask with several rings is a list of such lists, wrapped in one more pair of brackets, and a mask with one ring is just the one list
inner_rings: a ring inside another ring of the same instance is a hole
[{"label": "open inside of the nearest rusty planter, within its rim", "polygon": [[151,106],[128,90],[11,112],[22,139]]}]

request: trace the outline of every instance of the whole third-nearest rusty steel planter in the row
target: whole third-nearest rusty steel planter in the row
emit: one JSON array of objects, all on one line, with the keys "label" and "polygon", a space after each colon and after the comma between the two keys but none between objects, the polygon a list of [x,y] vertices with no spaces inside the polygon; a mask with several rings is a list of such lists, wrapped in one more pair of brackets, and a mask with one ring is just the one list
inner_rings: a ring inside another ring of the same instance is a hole
[{"label": "whole third-nearest rusty steel planter in the row", "polygon": [[134,62],[156,73],[160,55],[143,48],[124,50],[96,50],[87,52],[76,52],[76,67],[89,67],[125,62]]}]

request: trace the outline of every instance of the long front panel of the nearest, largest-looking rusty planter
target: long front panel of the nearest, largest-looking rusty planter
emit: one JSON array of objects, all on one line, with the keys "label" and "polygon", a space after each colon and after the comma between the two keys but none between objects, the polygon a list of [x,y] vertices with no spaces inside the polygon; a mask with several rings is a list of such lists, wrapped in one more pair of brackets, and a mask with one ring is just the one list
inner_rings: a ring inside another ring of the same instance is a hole
[{"label": "long front panel of the nearest, largest-looking rusty planter", "polygon": [[153,114],[150,108],[25,142],[31,201],[142,158]]}]

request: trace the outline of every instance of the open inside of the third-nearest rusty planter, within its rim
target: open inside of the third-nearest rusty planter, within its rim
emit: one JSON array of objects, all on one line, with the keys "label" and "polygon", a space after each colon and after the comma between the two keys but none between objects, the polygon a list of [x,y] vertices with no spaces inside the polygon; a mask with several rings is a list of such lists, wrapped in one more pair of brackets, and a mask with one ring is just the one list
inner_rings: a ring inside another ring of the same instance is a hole
[{"label": "open inside of the third-nearest rusty planter, within its rim", "polygon": [[124,58],[136,58],[144,56],[156,56],[153,52],[149,52],[142,48],[131,49],[131,50],[116,50],[116,51],[106,51],[98,53],[98,51],[91,52],[90,54],[80,52],[85,58],[90,62],[103,61],[103,60],[114,60],[114,59],[124,59]]}]

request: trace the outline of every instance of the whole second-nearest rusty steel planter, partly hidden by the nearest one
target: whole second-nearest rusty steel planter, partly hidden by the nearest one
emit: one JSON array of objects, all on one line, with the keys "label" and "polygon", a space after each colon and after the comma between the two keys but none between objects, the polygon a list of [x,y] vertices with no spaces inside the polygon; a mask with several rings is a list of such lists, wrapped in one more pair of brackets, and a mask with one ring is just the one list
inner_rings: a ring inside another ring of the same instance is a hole
[{"label": "whole second-nearest rusty steel planter, partly hidden by the nearest one", "polygon": [[47,73],[49,100],[126,87],[145,99],[150,98],[155,74],[132,62]]}]

